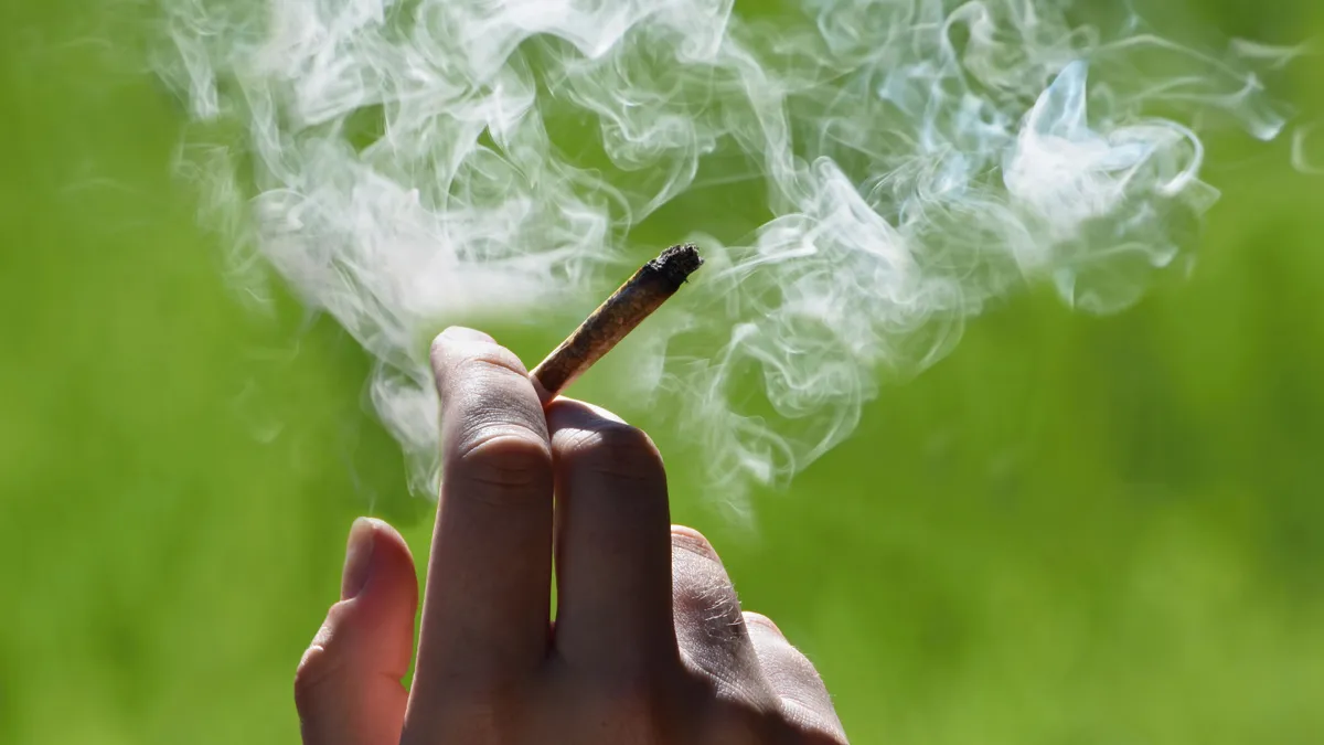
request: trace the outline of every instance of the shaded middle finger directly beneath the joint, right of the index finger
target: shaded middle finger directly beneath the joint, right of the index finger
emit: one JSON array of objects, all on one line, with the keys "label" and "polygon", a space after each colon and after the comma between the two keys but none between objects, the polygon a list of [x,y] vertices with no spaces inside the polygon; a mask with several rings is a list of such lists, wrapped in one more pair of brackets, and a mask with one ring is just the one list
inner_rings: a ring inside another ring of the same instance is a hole
[{"label": "shaded middle finger directly beneath the joint, right of the index finger", "polygon": [[556,647],[612,676],[674,664],[666,472],[649,437],[557,399],[547,411],[556,471]]}]

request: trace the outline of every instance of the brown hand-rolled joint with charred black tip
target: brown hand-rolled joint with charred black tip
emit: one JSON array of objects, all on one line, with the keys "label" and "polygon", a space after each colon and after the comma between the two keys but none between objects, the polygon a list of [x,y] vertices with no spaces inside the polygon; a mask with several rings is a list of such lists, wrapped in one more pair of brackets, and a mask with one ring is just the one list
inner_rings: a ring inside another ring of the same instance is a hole
[{"label": "brown hand-rolled joint with charred black tip", "polygon": [[543,403],[549,403],[612,351],[702,265],[699,249],[692,244],[683,244],[673,245],[641,266],[534,369],[534,382]]}]

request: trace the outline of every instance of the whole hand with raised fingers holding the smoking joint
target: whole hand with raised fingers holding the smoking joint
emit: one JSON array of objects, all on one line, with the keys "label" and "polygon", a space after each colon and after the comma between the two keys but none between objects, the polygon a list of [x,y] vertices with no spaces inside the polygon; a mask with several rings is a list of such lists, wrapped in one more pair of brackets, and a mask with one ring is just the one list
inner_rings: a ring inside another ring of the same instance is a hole
[{"label": "whole hand with raised fingers holding the smoking joint", "polygon": [[307,745],[846,742],[809,660],[671,526],[646,435],[573,400],[544,411],[485,334],[448,330],[432,363],[444,484],[413,687],[413,558],[360,520],[295,675]]}]

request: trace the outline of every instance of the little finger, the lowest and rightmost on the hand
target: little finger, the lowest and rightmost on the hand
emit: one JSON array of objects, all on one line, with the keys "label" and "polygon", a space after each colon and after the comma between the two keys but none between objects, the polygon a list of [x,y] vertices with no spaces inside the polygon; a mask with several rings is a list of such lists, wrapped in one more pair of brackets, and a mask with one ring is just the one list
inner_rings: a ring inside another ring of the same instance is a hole
[{"label": "little finger, the lowest and rightmost on the hand", "polygon": [[802,729],[845,741],[846,733],[837,718],[828,687],[809,658],[792,647],[768,616],[745,611],[744,619],[763,675],[773,693],[781,699],[786,718]]}]

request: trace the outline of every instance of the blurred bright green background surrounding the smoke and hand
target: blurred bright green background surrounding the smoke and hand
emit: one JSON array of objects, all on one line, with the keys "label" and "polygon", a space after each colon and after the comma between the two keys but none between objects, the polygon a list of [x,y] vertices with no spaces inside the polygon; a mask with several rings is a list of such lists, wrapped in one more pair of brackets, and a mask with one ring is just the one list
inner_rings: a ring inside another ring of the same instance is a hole
[{"label": "blurred bright green background surrounding the smoke and hand", "polygon": [[[1316,0],[1137,8],[1324,37]],[[434,505],[364,414],[361,351],[225,286],[171,176],[151,17],[0,3],[5,744],[294,742],[352,518],[426,558]],[[1324,60],[1276,82],[1324,115]],[[675,520],[854,742],[1324,742],[1324,178],[1287,139],[1215,138],[1210,162],[1189,278],[1111,318],[1046,293],[985,315],[752,525],[671,460]],[[561,331],[503,341],[534,361]]]}]

